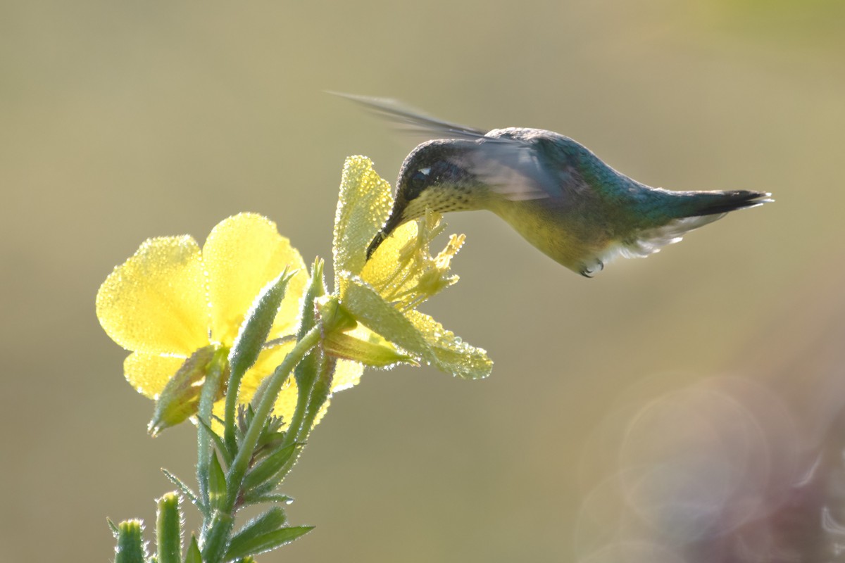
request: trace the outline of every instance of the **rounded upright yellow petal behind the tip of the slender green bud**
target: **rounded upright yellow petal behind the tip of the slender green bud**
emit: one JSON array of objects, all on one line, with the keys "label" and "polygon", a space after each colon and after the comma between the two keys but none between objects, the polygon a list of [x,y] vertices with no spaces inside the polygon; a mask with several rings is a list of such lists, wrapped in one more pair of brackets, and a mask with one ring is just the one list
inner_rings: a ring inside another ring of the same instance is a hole
[{"label": "rounded upright yellow petal behind the tip of the slender green bud", "polygon": [[298,273],[287,285],[270,338],[292,333],[308,273],[303,257],[273,221],[245,213],[224,219],[205,241],[203,261],[209,273],[212,338],[231,345],[259,291],[285,267]]}]

